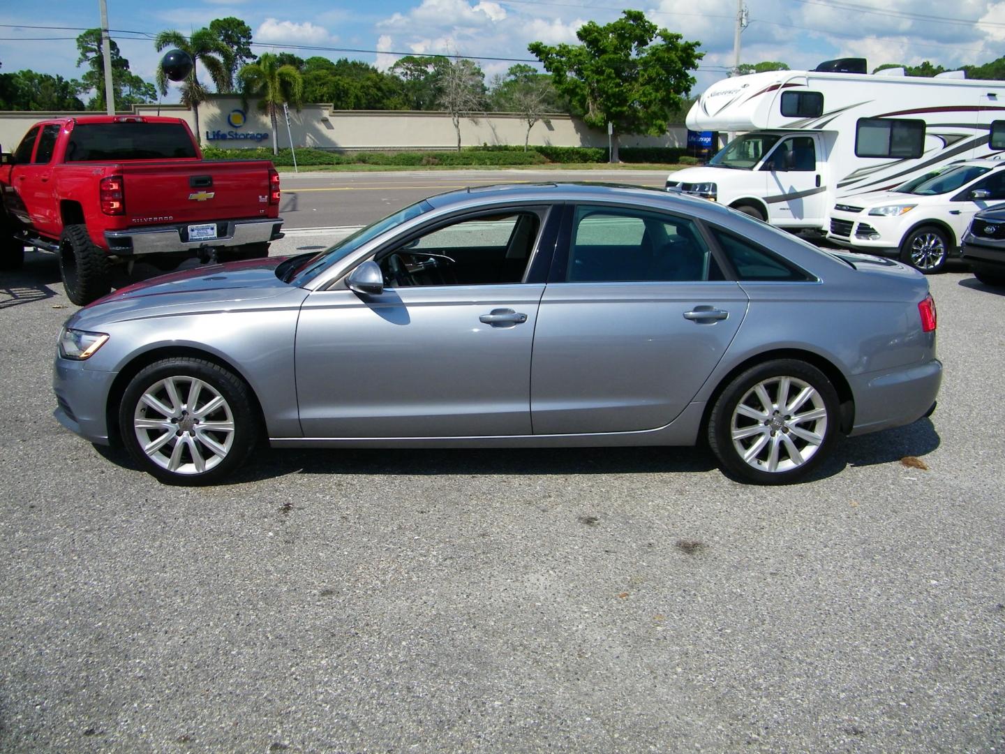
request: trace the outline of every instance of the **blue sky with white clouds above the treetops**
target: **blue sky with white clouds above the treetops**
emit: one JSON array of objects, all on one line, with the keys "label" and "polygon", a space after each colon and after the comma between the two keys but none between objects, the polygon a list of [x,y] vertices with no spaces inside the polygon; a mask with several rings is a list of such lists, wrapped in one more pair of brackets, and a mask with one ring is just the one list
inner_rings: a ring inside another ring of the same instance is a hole
[{"label": "blue sky with white clouds above the treetops", "polygon": [[[109,26],[122,30],[113,32],[113,37],[132,70],[148,80],[153,80],[159,57],[154,34],[164,29],[188,33],[225,16],[242,18],[251,27],[259,43],[253,47],[256,52],[288,49],[303,57],[348,56],[387,67],[397,58],[394,52],[453,50],[472,57],[531,58],[529,42],[575,42],[576,29],[584,22],[606,23],[623,7],[632,7],[659,26],[701,42],[706,57],[696,75],[695,91],[699,91],[724,77],[733,63],[737,12],[736,0],[659,0],[656,4],[647,0],[629,6],[611,0],[181,2],[108,0]],[[0,62],[4,72],[32,68],[64,77],[80,75],[76,27],[99,25],[97,0],[3,5]],[[925,59],[952,66],[1005,54],[1005,0],[747,0],[747,5],[750,25],[742,37],[744,62],[784,60],[793,68],[805,68],[832,57],[856,56],[868,58],[870,66],[915,64]],[[479,62],[489,78],[513,64]]]}]

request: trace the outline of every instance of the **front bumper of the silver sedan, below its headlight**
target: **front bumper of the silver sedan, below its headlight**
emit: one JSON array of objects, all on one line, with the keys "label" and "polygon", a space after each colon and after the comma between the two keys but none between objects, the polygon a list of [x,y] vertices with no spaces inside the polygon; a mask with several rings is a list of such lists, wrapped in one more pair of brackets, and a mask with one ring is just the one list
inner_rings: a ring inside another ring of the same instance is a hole
[{"label": "front bumper of the silver sedan, below its headlight", "polygon": [[85,361],[56,357],[52,365],[56,409],[52,415],[85,440],[108,445],[109,423],[105,408],[117,373],[86,369],[85,366]]}]

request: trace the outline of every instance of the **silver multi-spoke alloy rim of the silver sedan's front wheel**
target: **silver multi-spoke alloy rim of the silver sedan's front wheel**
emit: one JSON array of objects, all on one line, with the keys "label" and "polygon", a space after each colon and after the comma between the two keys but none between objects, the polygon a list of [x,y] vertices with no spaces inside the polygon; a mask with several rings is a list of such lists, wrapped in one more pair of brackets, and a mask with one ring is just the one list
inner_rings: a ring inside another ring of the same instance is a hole
[{"label": "silver multi-spoke alloy rim of the silver sedan's front wheel", "polygon": [[227,457],[234,416],[220,392],[197,377],[166,377],[140,397],[133,414],[140,447],[174,474],[204,474]]}]

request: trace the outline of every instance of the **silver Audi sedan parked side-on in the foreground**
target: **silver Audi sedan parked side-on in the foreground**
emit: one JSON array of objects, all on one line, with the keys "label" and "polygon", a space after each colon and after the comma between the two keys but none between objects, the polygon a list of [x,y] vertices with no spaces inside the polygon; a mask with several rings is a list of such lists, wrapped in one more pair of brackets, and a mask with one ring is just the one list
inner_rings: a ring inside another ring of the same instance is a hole
[{"label": "silver Audi sedan parked side-on in the foreground", "polygon": [[925,277],[713,202],[510,185],[413,204],[315,254],[186,270],[67,320],[56,418],[170,484],[275,447],[708,442],[799,480],[835,436],[931,413]]}]

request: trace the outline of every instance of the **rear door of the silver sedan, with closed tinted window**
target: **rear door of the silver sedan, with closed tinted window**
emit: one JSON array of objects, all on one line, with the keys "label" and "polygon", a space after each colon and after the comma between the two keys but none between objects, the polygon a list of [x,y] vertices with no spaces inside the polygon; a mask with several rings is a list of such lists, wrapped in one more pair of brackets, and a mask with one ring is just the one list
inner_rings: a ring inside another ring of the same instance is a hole
[{"label": "rear door of the silver sedan, with closed tinted window", "polygon": [[534,432],[664,426],[723,358],[747,296],[689,218],[582,204],[566,221],[534,340]]}]

